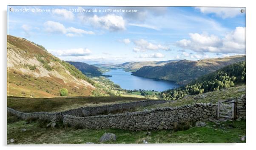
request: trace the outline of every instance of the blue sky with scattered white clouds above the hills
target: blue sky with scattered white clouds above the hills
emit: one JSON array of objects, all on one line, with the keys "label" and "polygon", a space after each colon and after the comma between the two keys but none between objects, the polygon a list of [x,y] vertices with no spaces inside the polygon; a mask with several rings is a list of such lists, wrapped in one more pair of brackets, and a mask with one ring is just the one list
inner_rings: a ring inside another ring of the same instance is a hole
[{"label": "blue sky with scattered white clouds above the hills", "polygon": [[241,9],[9,6],[8,34],[90,64],[218,58],[245,54]]}]

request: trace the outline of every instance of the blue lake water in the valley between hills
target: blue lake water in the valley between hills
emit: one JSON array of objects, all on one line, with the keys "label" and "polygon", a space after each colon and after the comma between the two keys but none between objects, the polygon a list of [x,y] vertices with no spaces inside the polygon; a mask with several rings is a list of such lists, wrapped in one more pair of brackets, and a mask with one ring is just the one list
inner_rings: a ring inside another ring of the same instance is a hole
[{"label": "blue lake water in the valley between hills", "polygon": [[112,77],[108,78],[121,86],[122,89],[154,89],[155,91],[162,92],[180,86],[174,82],[137,77],[131,75],[131,72],[125,72],[123,69],[111,69],[109,72],[105,72],[104,75],[112,75]]}]

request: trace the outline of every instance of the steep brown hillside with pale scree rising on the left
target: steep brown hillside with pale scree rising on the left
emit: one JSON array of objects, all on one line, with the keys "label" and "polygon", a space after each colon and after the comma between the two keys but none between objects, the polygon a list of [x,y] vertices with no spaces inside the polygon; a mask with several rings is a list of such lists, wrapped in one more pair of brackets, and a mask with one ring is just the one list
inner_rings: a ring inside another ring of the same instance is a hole
[{"label": "steep brown hillside with pale scree rising on the left", "polygon": [[7,95],[55,97],[91,95],[94,81],[73,65],[51,55],[42,46],[7,35]]}]

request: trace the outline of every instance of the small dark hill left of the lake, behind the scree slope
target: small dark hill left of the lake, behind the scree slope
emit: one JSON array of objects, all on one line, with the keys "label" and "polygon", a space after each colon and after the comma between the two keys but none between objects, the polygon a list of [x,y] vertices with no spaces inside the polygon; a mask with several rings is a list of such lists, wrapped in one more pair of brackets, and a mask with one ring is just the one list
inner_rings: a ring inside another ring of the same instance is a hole
[{"label": "small dark hill left of the lake, behind the scree slope", "polygon": [[79,69],[83,74],[88,76],[100,76],[102,75],[102,72],[100,71],[100,68],[86,64],[83,62],[76,62],[76,61],[67,61],[69,64],[73,65],[77,69]]}]

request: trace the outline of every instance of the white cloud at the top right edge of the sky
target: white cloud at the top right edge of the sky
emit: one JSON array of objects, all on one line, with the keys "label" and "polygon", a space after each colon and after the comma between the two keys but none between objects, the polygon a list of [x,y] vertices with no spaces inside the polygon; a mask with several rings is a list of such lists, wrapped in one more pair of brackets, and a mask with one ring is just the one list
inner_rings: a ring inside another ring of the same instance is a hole
[{"label": "white cloud at the top right edge of the sky", "polygon": [[237,7],[198,7],[196,9],[199,9],[204,14],[216,14],[218,17],[225,18],[233,18],[236,17],[241,13],[241,9],[243,8],[237,8]]}]

